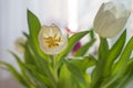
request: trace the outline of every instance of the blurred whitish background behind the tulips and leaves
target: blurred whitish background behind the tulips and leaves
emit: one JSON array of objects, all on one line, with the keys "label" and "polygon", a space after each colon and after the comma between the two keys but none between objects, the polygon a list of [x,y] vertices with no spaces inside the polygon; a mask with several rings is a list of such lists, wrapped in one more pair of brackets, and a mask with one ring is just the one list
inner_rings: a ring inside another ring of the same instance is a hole
[{"label": "blurred whitish background behind the tulips and leaves", "polygon": [[[14,51],[14,41],[22,36],[22,32],[28,32],[27,9],[35,13],[41,24],[57,22],[75,32],[91,28],[101,3],[106,1],[109,0],[0,0],[0,61],[6,61],[18,68],[13,57],[7,51]],[[129,9],[132,7],[131,0],[113,1],[124,2]],[[133,20],[129,23],[131,24],[129,36],[131,36]],[[7,70],[0,68],[0,88],[21,87]]]}]

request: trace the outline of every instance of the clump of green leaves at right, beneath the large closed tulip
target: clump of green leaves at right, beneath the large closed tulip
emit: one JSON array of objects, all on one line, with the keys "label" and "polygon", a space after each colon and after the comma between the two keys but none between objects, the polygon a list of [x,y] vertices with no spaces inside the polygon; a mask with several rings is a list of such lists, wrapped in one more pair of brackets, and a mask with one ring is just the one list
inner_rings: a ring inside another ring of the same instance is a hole
[{"label": "clump of green leaves at right, beneath the large closed tulip", "polygon": [[125,40],[126,31],[111,48],[108,48],[108,42],[101,40],[99,61],[92,73],[92,88],[125,88],[132,80],[133,59],[130,57],[133,51],[133,37],[127,44]]}]

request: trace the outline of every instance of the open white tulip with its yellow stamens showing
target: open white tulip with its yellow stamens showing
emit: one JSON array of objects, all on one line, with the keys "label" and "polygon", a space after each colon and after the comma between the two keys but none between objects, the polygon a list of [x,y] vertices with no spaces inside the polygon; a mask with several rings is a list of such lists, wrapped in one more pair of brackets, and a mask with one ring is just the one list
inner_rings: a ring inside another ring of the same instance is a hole
[{"label": "open white tulip with its yellow stamens showing", "polygon": [[68,38],[55,24],[50,26],[43,25],[39,33],[39,43],[45,54],[54,55],[66,47]]}]

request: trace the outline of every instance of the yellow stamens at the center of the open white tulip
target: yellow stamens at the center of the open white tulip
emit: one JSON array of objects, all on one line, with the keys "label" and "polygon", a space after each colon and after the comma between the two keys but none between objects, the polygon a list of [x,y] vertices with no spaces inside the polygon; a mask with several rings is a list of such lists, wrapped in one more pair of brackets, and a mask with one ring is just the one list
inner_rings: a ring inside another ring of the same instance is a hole
[{"label": "yellow stamens at the center of the open white tulip", "polygon": [[57,37],[57,34],[54,36],[48,36],[44,37],[44,44],[49,47],[49,48],[53,48],[55,46],[59,46],[61,42],[61,37]]}]

